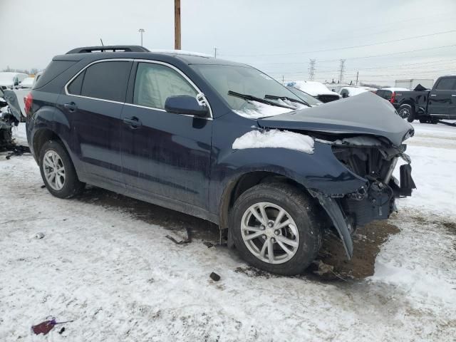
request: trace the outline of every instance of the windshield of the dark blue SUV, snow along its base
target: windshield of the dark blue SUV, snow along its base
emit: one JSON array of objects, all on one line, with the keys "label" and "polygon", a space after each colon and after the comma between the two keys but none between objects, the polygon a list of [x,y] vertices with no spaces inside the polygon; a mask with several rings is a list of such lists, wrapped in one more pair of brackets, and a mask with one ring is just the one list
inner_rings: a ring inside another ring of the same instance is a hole
[{"label": "windshield of the dark blue SUV, snow along its base", "polygon": [[234,93],[252,95],[259,99],[264,99],[265,95],[274,95],[279,98],[301,100],[301,98],[291,93],[290,90],[282,86],[279,82],[255,68],[214,64],[199,64],[192,67],[196,68],[202,74],[206,81],[224,98],[229,108],[232,108],[239,115],[248,118],[263,118],[265,116],[290,112],[294,110],[292,108],[307,108],[306,105],[286,99],[268,98],[271,102],[291,108],[276,107],[255,100],[247,100],[229,95],[228,92],[232,91]]}]

